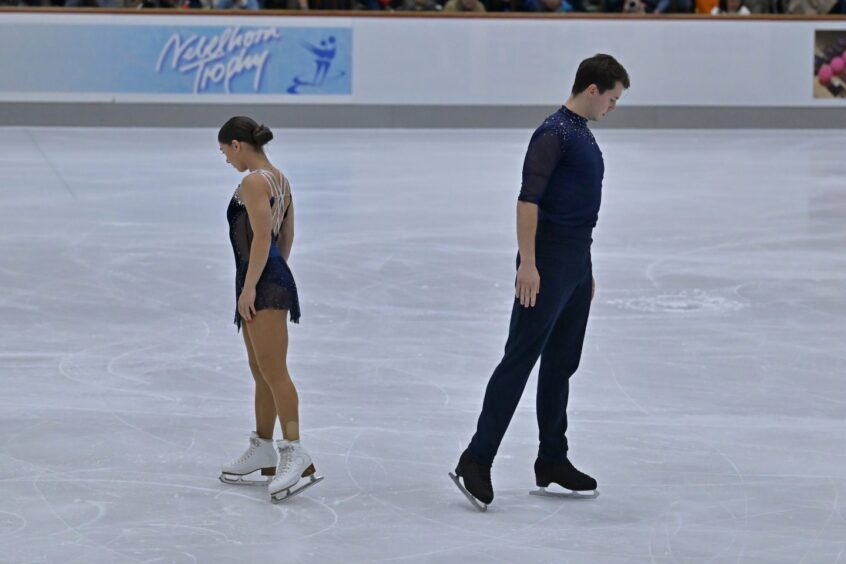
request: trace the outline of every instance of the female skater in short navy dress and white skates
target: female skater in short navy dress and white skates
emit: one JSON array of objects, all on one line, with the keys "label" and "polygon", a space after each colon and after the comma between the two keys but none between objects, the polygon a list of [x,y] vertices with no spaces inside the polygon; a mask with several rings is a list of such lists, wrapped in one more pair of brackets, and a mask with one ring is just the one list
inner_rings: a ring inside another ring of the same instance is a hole
[{"label": "female skater in short navy dress and white skates", "polygon": [[[297,323],[297,287],[287,260],[294,241],[291,186],[264,152],[273,133],[248,117],[233,117],[218,132],[220,151],[239,172],[249,171],[235,190],[226,218],[235,253],[235,324],[243,329],[256,384],[256,430],[250,445],[220,475],[227,484],[268,484],[272,501],[316,484],[308,452],[300,444],[297,389],[288,374],[287,316]],[[273,444],[276,419],[281,441]],[[248,480],[261,471],[264,481]],[[272,476],[272,478],[270,478]]]}]

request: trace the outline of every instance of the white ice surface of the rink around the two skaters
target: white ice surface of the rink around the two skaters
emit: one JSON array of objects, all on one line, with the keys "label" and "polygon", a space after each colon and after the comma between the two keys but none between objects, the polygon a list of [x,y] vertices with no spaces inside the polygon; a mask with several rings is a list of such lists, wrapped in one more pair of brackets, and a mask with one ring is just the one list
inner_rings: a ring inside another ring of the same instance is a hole
[{"label": "white ice surface of the rink around the two skaters", "polygon": [[530,131],[277,128],[326,479],[253,429],[213,130],[0,129],[0,562],[846,563],[846,134],[615,131],[570,403],[592,501],[528,495],[530,379],[476,512],[447,477],[508,329]]}]

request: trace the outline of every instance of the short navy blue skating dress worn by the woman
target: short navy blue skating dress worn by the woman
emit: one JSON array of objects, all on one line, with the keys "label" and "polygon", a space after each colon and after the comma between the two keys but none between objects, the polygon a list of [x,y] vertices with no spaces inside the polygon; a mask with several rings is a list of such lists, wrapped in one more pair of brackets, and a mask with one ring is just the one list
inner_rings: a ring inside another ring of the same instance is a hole
[{"label": "short navy blue skating dress worn by the woman", "polygon": [[[286,182],[287,184],[287,182]],[[240,186],[239,186],[240,188]],[[271,207],[276,198],[270,199]],[[282,202],[284,205],[284,202]],[[285,210],[285,216],[287,216]],[[238,313],[238,299],[244,289],[244,282],[247,278],[247,268],[250,261],[250,245],[253,242],[253,230],[250,227],[250,219],[247,215],[247,208],[238,196],[238,190],[229,201],[226,209],[226,219],[229,222],[229,241],[232,243],[232,252],[235,254],[235,325],[241,329],[241,314]],[[284,221],[284,219],[283,219]],[[280,309],[290,312],[291,322],[298,323],[300,320],[300,303],[297,297],[297,285],[294,283],[294,275],[279,247],[276,244],[278,232],[271,233],[270,250],[268,252],[267,264],[256,283],[255,310]]]}]

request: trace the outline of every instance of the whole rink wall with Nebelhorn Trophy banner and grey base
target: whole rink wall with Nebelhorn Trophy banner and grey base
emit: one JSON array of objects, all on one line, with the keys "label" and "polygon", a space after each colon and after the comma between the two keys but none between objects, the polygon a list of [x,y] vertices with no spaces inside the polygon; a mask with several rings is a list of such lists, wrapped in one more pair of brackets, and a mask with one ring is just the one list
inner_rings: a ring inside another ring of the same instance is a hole
[{"label": "whole rink wall with Nebelhorn Trophy banner and grey base", "polygon": [[606,52],[606,126],[846,126],[816,76],[842,19],[338,14],[0,12],[0,125],[530,127]]}]

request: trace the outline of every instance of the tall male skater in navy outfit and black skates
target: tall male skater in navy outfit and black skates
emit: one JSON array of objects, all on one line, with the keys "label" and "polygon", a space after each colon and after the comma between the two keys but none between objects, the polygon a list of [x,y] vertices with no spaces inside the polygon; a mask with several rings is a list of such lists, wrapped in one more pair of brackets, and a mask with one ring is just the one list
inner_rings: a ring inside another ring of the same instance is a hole
[{"label": "tall male skater in navy outfit and black skates", "polygon": [[536,483],[542,492],[556,483],[595,495],[596,480],[570,463],[565,438],[569,379],[579,366],[595,289],[591,233],[605,171],[587,122],[611,112],[628,87],[628,73],[610,55],[585,59],[570,98],[529,142],[517,202],[516,297],[505,354],[488,382],[476,434],[450,474],[482,511],[494,497],[494,456],[538,357]]}]

